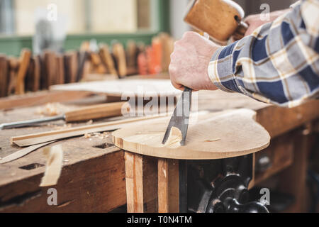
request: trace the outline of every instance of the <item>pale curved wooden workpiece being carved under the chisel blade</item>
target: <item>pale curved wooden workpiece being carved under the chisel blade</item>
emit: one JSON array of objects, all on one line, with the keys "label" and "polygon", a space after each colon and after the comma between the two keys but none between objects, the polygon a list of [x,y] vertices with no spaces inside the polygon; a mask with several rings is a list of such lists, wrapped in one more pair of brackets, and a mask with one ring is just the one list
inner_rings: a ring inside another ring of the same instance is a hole
[{"label": "pale curved wooden workpiece being carved under the chisel blade", "polygon": [[113,143],[141,155],[180,160],[237,157],[267,148],[269,133],[247,109],[191,116],[186,145],[162,145],[170,118],[159,118],[113,132]]}]

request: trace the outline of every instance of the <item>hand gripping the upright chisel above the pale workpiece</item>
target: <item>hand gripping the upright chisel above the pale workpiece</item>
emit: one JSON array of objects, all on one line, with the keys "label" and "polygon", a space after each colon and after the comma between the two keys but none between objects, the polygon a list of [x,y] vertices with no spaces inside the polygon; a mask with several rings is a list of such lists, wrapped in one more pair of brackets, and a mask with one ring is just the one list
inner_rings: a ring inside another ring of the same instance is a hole
[{"label": "hand gripping the upright chisel above the pale workpiece", "polygon": [[216,90],[208,77],[208,65],[213,53],[220,48],[198,33],[187,32],[174,45],[169,74],[172,84],[180,90]]}]

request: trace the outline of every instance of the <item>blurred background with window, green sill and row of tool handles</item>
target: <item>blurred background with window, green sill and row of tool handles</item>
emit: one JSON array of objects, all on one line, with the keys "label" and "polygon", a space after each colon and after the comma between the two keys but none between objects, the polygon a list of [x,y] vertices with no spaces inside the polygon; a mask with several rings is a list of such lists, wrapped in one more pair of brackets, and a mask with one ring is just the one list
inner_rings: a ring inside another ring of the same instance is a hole
[{"label": "blurred background with window, green sill and row of tool handles", "polygon": [[[293,2],[237,0],[246,15]],[[167,76],[174,41],[191,30],[183,20],[191,3],[0,0],[0,97],[110,75]]]}]

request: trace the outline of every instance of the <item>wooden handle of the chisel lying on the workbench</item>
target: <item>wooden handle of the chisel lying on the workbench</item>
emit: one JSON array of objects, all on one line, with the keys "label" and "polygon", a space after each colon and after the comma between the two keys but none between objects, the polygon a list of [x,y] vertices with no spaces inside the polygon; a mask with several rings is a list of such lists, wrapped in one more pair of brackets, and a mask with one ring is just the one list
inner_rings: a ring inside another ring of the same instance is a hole
[{"label": "wooden handle of the chisel lying on the workbench", "polygon": [[128,102],[121,101],[110,104],[89,106],[65,113],[65,121],[89,121],[98,118],[121,116],[122,108],[125,109],[125,111],[129,111],[130,104],[128,104]]}]

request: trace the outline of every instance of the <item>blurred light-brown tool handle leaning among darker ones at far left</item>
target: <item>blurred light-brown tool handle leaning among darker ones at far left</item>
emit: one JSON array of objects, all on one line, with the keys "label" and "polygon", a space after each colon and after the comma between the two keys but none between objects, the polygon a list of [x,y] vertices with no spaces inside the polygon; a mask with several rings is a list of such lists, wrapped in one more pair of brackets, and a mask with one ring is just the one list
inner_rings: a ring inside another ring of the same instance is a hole
[{"label": "blurred light-brown tool handle leaning among darker ones at far left", "polygon": [[28,72],[28,67],[30,64],[31,51],[28,49],[23,49],[21,51],[20,57],[20,67],[18,70],[18,76],[16,79],[16,94],[24,94],[25,92],[25,83],[24,79],[26,73]]}]

